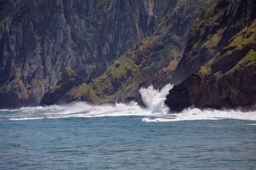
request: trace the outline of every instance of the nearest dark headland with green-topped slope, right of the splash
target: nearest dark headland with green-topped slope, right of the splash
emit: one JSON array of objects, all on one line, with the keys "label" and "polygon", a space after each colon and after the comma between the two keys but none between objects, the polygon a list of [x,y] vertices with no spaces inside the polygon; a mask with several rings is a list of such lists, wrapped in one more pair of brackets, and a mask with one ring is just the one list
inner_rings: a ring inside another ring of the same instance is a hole
[{"label": "nearest dark headland with green-topped slope, right of the splash", "polygon": [[256,104],[256,20],[236,34],[219,55],[175,86],[166,104],[175,111]]}]

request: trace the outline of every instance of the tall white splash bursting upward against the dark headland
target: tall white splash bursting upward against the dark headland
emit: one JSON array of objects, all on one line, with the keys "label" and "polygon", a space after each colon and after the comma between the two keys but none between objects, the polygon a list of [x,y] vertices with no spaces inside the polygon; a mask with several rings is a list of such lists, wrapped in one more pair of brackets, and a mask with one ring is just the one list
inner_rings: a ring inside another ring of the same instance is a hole
[{"label": "tall white splash bursting upward against the dark headland", "polygon": [[164,104],[164,101],[172,88],[173,85],[167,84],[159,91],[159,89],[154,89],[153,85],[150,85],[148,88],[140,88],[139,91],[143,102],[151,113],[168,113],[169,108]]}]

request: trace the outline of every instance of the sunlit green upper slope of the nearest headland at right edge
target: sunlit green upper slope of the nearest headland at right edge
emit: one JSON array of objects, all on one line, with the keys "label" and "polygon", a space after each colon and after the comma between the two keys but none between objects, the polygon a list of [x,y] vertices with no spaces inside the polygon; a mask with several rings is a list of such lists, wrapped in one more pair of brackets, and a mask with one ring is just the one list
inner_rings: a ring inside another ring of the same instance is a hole
[{"label": "sunlit green upper slope of the nearest headland at right edge", "polygon": [[[216,56],[201,67],[198,72],[211,70],[218,78],[224,74],[231,74],[235,70],[241,70],[249,65],[254,65],[256,60],[256,20],[250,23],[238,34],[230,39],[229,44],[223,48],[220,56]],[[209,71],[207,71],[209,72]]]}]

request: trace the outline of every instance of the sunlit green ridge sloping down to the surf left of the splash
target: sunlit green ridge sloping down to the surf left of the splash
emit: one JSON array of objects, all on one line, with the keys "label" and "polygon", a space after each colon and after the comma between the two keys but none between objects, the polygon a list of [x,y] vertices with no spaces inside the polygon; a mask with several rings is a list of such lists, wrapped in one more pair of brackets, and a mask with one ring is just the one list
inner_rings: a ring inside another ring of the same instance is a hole
[{"label": "sunlit green ridge sloping down to the surf left of the splash", "polygon": [[[100,104],[120,101],[122,96],[127,97],[129,93],[137,91],[140,82],[144,79],[153,76],[178,55],[181,56],[181,49],[177,37],[176,39],[166,36],[145,38],[126,51],[101,77],[90,84],[84,82],[72,88],[59,102],[82,99]],[[58,83],[52,89],[57,86]],[[49,93],[55,94],[55,91],[51,90]],[[48,99],[43,98],[42,101]]]}]

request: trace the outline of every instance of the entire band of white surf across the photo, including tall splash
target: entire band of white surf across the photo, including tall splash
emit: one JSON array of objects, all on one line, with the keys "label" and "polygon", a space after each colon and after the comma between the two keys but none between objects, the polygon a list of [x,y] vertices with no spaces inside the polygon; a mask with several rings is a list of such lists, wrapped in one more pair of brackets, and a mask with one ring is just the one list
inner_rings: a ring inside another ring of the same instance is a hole
[{"label": "entire band of white surf across the photo, including tall splash", "polygon": [[256,111],[216,110],[190,107],[181,113],[169,113],[164,104],[166,95],[173,85],[166,85],[161,90],[148,88],[139,90],[142,100],[147,106],[140,107],[137,102],[115,105],[90,105],[86,102],[71,102],[66,105],[50,105],[24,107],[17,110],[0,110],[0,120],[57,119],[68,117],[101,117],[101,116],[142,116],[143,122],[172,122],[182,120],[206,119],[247,119],[256,120]]}]

